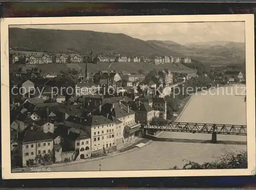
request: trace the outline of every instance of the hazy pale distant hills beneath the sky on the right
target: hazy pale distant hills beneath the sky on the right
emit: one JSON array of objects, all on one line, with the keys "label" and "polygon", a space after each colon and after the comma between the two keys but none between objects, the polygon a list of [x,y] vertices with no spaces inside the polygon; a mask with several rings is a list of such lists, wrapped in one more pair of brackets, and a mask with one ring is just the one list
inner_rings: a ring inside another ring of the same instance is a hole
[{"label": "hazy pale distant hills beneath the sky on the right", "polygon": [[206,65],[245,63],[245,44],[240,42],[211,41],[186,45],[157,40],[151,42]]}]

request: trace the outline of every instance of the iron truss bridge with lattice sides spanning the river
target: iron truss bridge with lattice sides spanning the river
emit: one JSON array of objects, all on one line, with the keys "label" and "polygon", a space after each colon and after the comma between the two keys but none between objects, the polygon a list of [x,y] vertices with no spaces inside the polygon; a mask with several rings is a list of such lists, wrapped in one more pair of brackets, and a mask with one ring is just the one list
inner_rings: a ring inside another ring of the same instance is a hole
[{"label": "iron truss bridge with lattice sides spanning the river", "polygon": [[143,130],[155,129],[160,131],[173,132],[193,132],[193,133],[215,133],[215,134],[231,134],[246,135],[246,125],[224,125],[210,123],[182,123],[182,122],[161,122],[147,121],[142,125]]}]

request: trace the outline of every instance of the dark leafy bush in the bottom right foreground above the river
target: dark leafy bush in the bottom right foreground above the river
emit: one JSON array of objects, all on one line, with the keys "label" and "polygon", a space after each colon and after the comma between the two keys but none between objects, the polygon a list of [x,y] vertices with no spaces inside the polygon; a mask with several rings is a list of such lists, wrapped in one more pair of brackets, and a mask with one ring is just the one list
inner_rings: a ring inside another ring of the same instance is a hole
[{"label": "dark leafy bush in the bottom right foreground above the river", "polygon": [[[247,152],[239,153],[225,152],[217,161],[206,162],[202,165],[189,161],[183,166],[183,170],[198,170],[198,169],[246,169],[247,168]],[[175,166],[173,169],[179,169]]]}]

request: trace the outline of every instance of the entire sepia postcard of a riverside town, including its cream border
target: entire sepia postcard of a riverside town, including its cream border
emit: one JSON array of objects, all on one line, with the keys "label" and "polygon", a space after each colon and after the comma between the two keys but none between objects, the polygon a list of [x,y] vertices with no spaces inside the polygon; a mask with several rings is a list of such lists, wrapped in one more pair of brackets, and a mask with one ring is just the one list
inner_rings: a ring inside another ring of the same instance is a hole
[{"label": "entire sepia postcard of a riverside town, including its cream border", "polygon": [[255,174],[254,16],[1,20],[6,179]]}]

